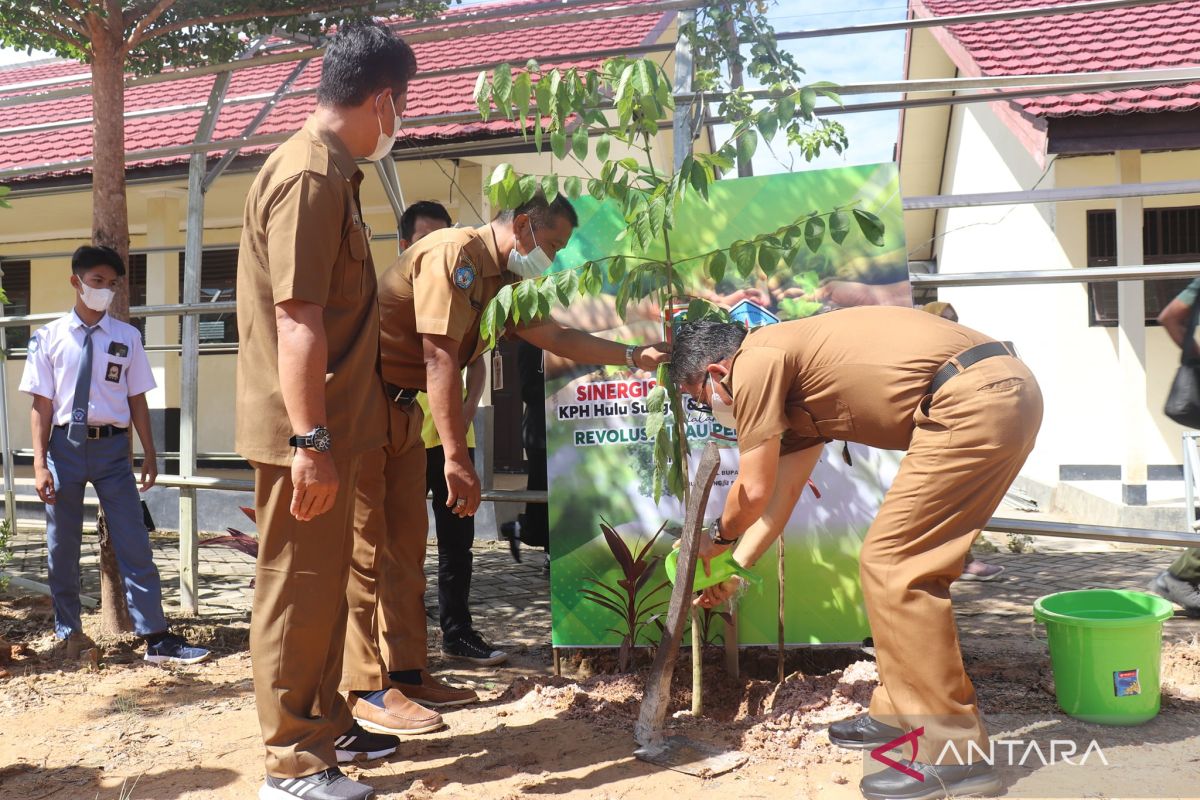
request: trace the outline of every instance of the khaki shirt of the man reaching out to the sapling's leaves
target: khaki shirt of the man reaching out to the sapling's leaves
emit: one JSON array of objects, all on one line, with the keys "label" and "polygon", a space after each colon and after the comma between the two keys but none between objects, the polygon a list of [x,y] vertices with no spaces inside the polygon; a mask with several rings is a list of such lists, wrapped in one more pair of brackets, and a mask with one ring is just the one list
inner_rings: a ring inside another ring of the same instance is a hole
[{"label": "khaki shirt of the man reaching out to the sapling's leaves", "polygon": [[516,276],[502,270],[490,225],[443,228],[404,251],[379,277],[383,379],[398,389],[426,389],[421,336],[458,342],[458,366],[478,359],[484,308]]}]

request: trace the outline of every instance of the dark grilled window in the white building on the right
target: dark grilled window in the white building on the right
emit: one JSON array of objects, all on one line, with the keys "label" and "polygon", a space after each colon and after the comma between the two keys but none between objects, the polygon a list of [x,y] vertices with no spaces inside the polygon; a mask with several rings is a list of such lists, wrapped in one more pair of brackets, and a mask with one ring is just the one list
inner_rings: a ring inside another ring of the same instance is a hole
[{"label": "dark grilled window in the white building on the right", "polygon": [[[1142,216],[1145,263],[1189,264],[1200,261],[1200,206],[1145,209]],[[1087,212],[1087,265],[1117,265],[1117,212]],[[1190,278],[1146,281],[1146,321],[1190,283]],[[1112,281],[1087,284],[1092,325],[1117,324],[1117,284]]]}]

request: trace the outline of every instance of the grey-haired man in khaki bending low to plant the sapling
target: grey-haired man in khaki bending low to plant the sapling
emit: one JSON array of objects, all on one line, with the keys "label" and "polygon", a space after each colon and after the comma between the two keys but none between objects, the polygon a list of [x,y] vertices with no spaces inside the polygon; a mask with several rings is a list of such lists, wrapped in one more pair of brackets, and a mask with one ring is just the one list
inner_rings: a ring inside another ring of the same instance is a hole
[{"label": "grey-haired man in khaki bending low to plant the sapling", "polygon": [[[895,769],[868,775],[868,798],[998,789],[989,765],[940,758],[947,742],[960,754],[968,742],[988,750],[949,585],[1033,449],[1042,423],[1033,374],[983,333],[913,308],[871,306],[749,333],[737,324],[683,325],[671,377],[738,431],[740,469],[714,539],[702,540],[706,569],[734,543],[736,561],[758,560],[824,443],[907,451],[859,557],[880,686],[870,712],[835,723],[829,738],[870,750],[916,734],[908,769],[923,778]],[[733,584],[706,590],[697,603],[725,602]]]}]

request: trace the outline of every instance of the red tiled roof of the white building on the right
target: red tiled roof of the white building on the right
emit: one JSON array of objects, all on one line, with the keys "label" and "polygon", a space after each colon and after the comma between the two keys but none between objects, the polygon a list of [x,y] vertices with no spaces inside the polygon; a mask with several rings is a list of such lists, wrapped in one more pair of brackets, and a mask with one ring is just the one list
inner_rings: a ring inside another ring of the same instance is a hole
[{"label": "red tiled roof of the white building on the right", "polygon": [[[1036,8],[1086,0],[913,0],[919,17]],[[1200,65],[1200,0],[1052,17],[953,25],[973,74],[1008,76]],[[1054,95],[1015,101],[1032,116],[1184,112],[1200,108],[1200,83]]]}]

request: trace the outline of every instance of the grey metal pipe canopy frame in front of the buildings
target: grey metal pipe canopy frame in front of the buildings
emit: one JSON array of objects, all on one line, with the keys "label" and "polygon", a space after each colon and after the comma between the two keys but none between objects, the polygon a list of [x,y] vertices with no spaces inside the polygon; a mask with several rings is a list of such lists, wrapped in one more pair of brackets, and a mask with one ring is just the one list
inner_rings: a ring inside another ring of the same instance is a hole
[{"label": "grey metal pipe canopy frame in front of the buildings", "polygon": [[[1021,19],[1043,17],[1051,14],[1075,14],[1094,11],[1106,11],[1114,8],[1128,8],[1146,5],[1170,5],[1183,0],[1102,0],[1096,2],[1084,2],[1078,5],[1044,6],[1040,8],[1021,8],[1014,11],[988,12],[959,14],[954,17],[930,17],[896,20],[892,23],[878,23],[870,25],[853,25],[845,28],[827,28],[821,30],[791,31],[778,34],[780,41],[828,37],[840,35],[870,34],[887,30],[914,30],[931,26],[946,25],[970,25],[1001,19]],[[568,22],[583,22],[589,19],[605,19],[613,17],[644,16],[652,13],[682,12],[689,14],[692,10],[707,5],[706,0],[653,0],[652,2],[637,6],[614,6],[611,0],[572,0],[569,4],[551,0],[522,7],[522,16],[517,19],[504,19],[511,16],[511,8],[480,10],[468,13],[460,13],[450,17],[442,17],[433,22],[403,23],[397,30],[406,34],[409,42],[433,42],[446,41],[460,36],[482,35],[494,31],[509,31],[517,29],[541,28],[551,24]],[[542,13],[545,12],[545,13]],[[307,42],[304,42],[307,43]],[[130,116],[152,116],[156,114],[174,113],[185,109],[204,108],[204,115],[198,126],[197,136],[191,145],[173,148],[158,148],[126,154],[127,161],[167,158],[188,155],[188,205],[187,205],[187,235],[184,247],[184,302],[179,305],[154,306],[132,308],[131,315],[157,317],[179,315],[182,319],[182,337],[179,351],[182,357],[181,366],[181,422],[180,422],[180,475],[161,475],[158,483],[180,489],[180,597],[181,606],[186,613],[199,612],[197,594],[197,560],[198,560],[198,519],[196,499],[200,489],[239,489],[252,488],[250,481],[230,481],[224,479],[203,477],[196,475],[197,462],[197,408],[198,408],[198,367],[199,367],[199,331],[198,315],[202,313],[232,312],[236,305],[228,303],[200,303],[199,302],[199,267],[200,255],[205,249],[203,242],[204,234],[204,196],[212,186],[214,181],[232,163],[236,154],[244,148],[276,144],[284,140],[290,133],[256,136],[258,126],[266,119],[270,110],[289,97],[300,97],[313,94],[312,89],[292,91],[290,85],[302,73],[307,64],[320,55],[320,47],[298,48],[283,53],[269,53],[268,50],[280,47],[294,47],[292,42],[269,44],[266,37],[260,37],[236,60],[196,67],[186,71],[173,71],[168,73],[146,76],[126,82],[126,89],[166,83],[172,80],[187,80],[203,76],[215,74],[216,82],[212,85],[209,100],[204,104],[185,104],[133,112]],[[691,112],[694,104],[715,100],[714,96],[697,96],[690,91],[691,59],[688,44],[679,40],[674,46],[647,44],[642,47],[623,48],[620,50],[592,50],[586,53],[551,56],[547,62],[554,60],[571,60],[580,58],[606,58],[607,55],[628,53],[659,53],[674,50],[676,76],[673,91],[677,98],[677,113],[673,125],[676,128],[674,161],[678,163],[683,144],[690,142],[694,136],[696,120]],[[272,92],[246,95],[242,97],[226,98],[229,78],[233,71],[245,67],[258,67],[274,64],[298,62],[280,86]],[[494,64],[472,65],[440,70],[422,77],[444,77],[461,74],[480,68],[488,68]],[[869,110],[881,110],[892,108],[922,108],[930,106],[952,106],[959,103],[992,102],[997,100],[1014,100],[1018,97],[1033,97],[1046,94],[1061,94],[1064,90],[1073,92],[1106,91],[1111,89],[1123,89],[1146,85],[1164,85],[1172,83],[1200,82],[1200,67],[1196,68],[1172,68],[1172,70],[1133,70],[1112,72],[1088,72],[1073,74],[1030,74],[1030,76],[1003,76],[1003,77],[978,77],[978,78],[954,78],[941,80],[902,80],[890,83],[854,84],[839,86],[838,91],[845,95],[853,94],[884,94],[884,92],[959,92],[964,90],[979,90],[968,95],[950,95],[932,98],[910,98],[900,101],[888,101],[883,103],[857,103],[846,107],[829,107],[820,109],[821,114],[844,114]],[[91,92],[90,76],[64,76],[38,82],[25,82],[19,84],[0,85],[0,108],[41,103],[50,100],[77,97]],[[64,86],[64,84],[82,84]],[[38,91],[38,90],[47,91]],[[996,89],[1015,89],[1015,91],[989,91]],[[12,95],[8,92],[30,92],[24,95]],[[4,96],[6,95],[7,96]],[[762,92],[757,92],[760,96]],[[719,96],[716,96],[719,97]],[[214,140],[212,132],[221,109],[226,106],[263,102],[254,119],[246,126],[240,137],[226,140]],[[700,109],[703,112],[703,109]],[[704,114],[702,118],[707,120]],[[409,120],[410,124],[434,125],[458,121],[474,121],[475,114],[445,114],[425,116]],[[35,131],[52,131],[62,127],[86,124],[86,120],[65,120],[60,122],[38,124],[32,126],[19,126],[0,131],[0,138],[18,136]],[[487,143],[485,143],[487,144]],[[397,217],[403,210],[403,196],[395,172],[395,158],[397,156],[432,155],[443,151],[446,145],[437,144],[427,148],[408,149],[394,152],[392,158],[386,160],[390,167],[380,166],[378,174],[383,182],[389,203],[392,205]],[[206,155],[212,151],[226,151],[222,157],[208,168]],[[16,169],[0,170],[0,181],[10,178],[18,178],[28,174],[36,174],[52,170],[80,169],[90,166],[91,160],[74,160],[50,164],[38,164]],[[998,205],[998,204],[1022,204],[1022,203],[1057,203],[1078,199],[1099,198],[1128,198],[1148,197],[1164,194],[1181,194],[1200,191],[1200,181],[1174,181],[1170,184],[1135,184],[1106,187],[1084,187],[1076,190],[1043,190],[1034,192],[1003,192],[974,196],[937,196],[925,198],[908,198],[905,203],[906,210],[932,210],[962,207],[972,205]],[[1136,194],[1132,194],[1136,192]],[[18,192],[19,194],[19,192]],[[210,246],[216,247],[216,246]],[[174,247],[143,248],[139,252],[178,252]],[[22,257],[30,258],[30,257]],[[1050,282],[1093,282],[1093,281],[1123,281],[1128,283],[1140,283],[1146,278],[1172,276],[1177,273],[1195,273],[1200,271],[1200,264],[1172,265],[1172,266],[1121,266],[1090,270],[1054,270],[1054,271],[1025,271],[1025,272],[990,272],[972,275],[912,275],[912,281],[917,285],[997,285],[1002,283],[1050,283]],[[23,317],[0,317],[0,344],[4,342],[4,331],[17,325],[30,325],[49,321],[59,314],[30,314]],[[163,345],[163,350],[174,350],[172,345]],[[12,492],[12,450],[8,441],[8,414],[4,403],[4,386],[6,380],[6,361],[0,360],[0,433],[2,433],[4,474],[5,474],[5,510],[12,529],[16,530],[16,510]],[[485,415],[486,419],[486,415]],[[481,449],[486,449],[486,435],[481,437],[484,443]],[[487,459],[481,459],[486,464]],[[516,503],[545,503],[545,492],[499,492],[491,488],[490,482],[485,486],[484,499],[491,501],[516,501]],[[1000,531],[1073,536],[1085,539],[1098,539],[1108,541],[1133,541],[1150,542],[1170,546],[1194,546],[1200,543],[1200,536],[1181,535],[1172,531],[1142,531],[1118,528],[1081,527],[1081,525],[1056,525],[1048,523],[1028,523],[1010,519],[994,519],[991,528]]]}]

